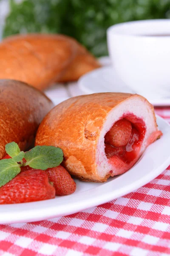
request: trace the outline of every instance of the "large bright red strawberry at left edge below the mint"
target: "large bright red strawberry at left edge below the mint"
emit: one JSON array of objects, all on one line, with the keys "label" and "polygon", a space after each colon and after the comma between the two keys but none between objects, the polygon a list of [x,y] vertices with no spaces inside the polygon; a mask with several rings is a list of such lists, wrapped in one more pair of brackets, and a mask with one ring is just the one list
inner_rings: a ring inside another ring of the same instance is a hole
[{"label": "large bright red strawberry at left edge below the mint", "polygon": [[55,189],[42,170],[20,172],[0,188],[0,204],[17,204],[55,198]]}]

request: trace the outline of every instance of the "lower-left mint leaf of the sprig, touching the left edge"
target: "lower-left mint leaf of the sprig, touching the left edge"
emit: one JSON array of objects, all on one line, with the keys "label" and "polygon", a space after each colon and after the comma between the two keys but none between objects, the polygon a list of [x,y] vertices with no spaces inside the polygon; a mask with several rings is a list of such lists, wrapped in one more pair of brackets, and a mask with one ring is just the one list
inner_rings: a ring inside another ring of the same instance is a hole
[{"label": "lower-left mint leaf of the sprig, touching the left edge", "polygon": [[13,159],[0,160],[0,187],[12,180],[20,170],[20,165]]}]

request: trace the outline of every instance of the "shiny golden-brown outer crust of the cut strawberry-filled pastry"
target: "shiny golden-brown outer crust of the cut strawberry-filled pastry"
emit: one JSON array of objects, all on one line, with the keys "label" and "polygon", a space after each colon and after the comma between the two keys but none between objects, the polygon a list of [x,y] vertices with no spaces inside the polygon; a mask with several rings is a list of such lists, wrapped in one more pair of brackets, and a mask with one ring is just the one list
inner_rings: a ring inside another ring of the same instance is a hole
[{"label": "shiny golden-brown outer crust of the cut strawberry-filled pastry", "polygon": [[[72,175],[82,180],[103,182],[109,175],[101,179],[96,172],[100,131],[108,113],[122,101],[134,96],[130,93],[94,93],[68,99],[45,116],[35,143],[62,148],[63,165]],[[142,96],[137,97],[147,101]]]}]

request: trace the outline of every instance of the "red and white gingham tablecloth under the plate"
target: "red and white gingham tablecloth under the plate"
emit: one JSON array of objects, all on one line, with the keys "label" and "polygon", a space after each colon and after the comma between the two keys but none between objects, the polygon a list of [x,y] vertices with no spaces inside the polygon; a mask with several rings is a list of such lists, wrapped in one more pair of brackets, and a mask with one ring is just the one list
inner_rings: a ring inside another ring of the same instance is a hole
[{"label": "red and white gingham tablecloth under the plate", "polygon": [[[170,108],[156,108],[170,121]],[[169,256],[170,166],[135,192],[61,218],[0,225],[3,256]]]}]

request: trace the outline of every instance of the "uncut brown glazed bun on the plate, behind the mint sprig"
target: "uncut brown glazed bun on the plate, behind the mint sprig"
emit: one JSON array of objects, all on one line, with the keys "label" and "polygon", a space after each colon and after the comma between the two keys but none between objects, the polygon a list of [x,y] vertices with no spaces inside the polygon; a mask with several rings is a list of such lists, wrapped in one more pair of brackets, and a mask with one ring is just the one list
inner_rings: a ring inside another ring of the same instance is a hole
[{"label": "uncut brown glazed bun on the plate, behind the mint sprig", "polygon": [[0,159],[6,154],[6,143],[15,141],[21,150],[34,143],[37,128],[52,107],[50,99],[34,87],[0,80]]}]

